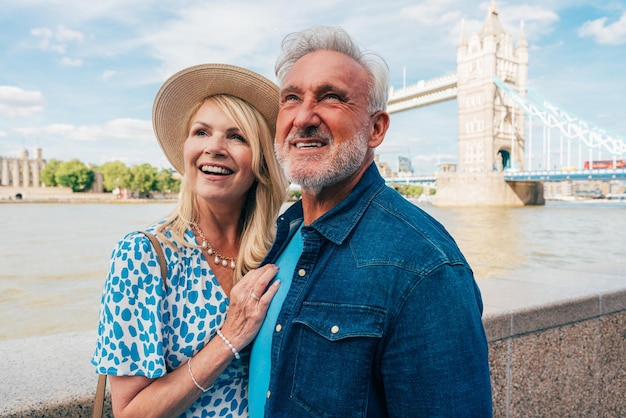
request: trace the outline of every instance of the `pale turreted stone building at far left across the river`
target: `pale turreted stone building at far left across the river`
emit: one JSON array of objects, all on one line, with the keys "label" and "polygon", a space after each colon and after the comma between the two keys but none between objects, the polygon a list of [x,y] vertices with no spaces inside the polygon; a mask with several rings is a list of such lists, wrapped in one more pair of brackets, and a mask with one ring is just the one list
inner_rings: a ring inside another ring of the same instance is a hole
[{"label": "pale turreted stone building at far left across the river", "polygon": [[40,173],[45,166],[39,147],[35,149],[35,158],[28,158],[26,148],[17,158],[0,157],[0,186],[42,187]]}]

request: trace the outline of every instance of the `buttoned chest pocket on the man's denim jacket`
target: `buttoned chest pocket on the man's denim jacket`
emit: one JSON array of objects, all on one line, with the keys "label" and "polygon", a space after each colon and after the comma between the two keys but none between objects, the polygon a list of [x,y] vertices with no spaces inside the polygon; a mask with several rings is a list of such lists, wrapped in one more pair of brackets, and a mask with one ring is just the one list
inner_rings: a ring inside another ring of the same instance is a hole
[{"label": "buttoned chest pocket on the man's denim jacket", "polygon": [[303,304],[293,320],[291,395],[312,416],[362,416],[385,314],[371,306]]}]

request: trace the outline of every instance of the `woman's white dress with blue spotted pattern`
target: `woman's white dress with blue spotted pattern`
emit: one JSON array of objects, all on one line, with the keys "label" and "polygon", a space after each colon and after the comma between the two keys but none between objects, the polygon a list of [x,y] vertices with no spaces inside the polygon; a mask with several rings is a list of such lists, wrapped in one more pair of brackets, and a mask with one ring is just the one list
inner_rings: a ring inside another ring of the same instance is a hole
[{"label": "woman's white dress with blue spotted pattern", "polygon": [[[157,224],[158,225],[158,224]],[[154,232],[157,225],[147,230]],[[196,242],[188,229],[185,237]],[[107,275],[96,372],[157,378],[184,366],[213,338],[226,319],[229,300],[196,248],[161,243],[167,259],[167,294],[148,238],[131,232],[116,245]],[[247,417],[249,350],[241,352],[181,417]],[[199,365],[195,367],[200,367]]]}]

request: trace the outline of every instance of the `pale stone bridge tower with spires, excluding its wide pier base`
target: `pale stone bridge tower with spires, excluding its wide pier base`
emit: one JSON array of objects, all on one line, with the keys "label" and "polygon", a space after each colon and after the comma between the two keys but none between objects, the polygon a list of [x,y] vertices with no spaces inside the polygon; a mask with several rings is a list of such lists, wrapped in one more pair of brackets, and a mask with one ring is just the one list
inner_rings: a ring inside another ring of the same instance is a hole
[{"label": "pale stone bridge tower with spires, excluding its wide pier base", "polygon": [[457,46],[459,172],[524,168],[524,114],[496,87],[494,76],[524,94],[528,43],[523,22],[514,46],[492,1],[481,30],[468,40],[463,28]]}]

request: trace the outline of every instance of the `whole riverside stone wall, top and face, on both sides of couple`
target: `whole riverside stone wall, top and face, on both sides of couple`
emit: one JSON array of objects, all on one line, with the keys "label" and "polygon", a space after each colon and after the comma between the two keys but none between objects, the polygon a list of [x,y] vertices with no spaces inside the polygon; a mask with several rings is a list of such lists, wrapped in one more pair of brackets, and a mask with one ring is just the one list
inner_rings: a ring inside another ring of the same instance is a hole
[{"label": "whole riverside stone wall, top and face, on both sides of couple", "polygon": [[[478,284],[494,417],[626,416],[626,260]],[[0,342],[0,417],[90,417],[95,338]]]}]

